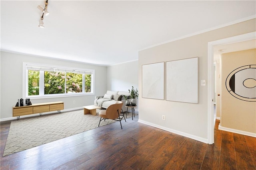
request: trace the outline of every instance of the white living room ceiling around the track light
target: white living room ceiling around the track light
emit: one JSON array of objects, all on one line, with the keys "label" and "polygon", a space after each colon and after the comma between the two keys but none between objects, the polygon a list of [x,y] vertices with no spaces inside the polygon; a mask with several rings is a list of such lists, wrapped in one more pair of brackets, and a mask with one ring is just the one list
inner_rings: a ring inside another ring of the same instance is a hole
[{"label": "white living room ceiling around the track light", "polygon": [[256,1],[0,1],[1,51],[112,65],[138,51],[256,14]]}]

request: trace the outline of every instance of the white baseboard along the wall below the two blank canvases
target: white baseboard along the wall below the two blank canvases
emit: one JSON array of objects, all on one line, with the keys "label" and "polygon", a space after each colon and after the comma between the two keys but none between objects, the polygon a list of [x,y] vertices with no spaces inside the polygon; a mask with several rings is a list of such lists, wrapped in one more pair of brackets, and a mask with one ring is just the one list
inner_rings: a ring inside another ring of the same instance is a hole
[{"label": "white baseboard along the wall below the two blank canvases", "polygon": [[168,131],[168,132],[171,132],[171,133],[175,133],[177,135],[181,135],[181,136],[184,136],[184,137],[188,137],[190,139],[194,139],[196,141],[199,141],[199,142],[202,142],[202,143],[208,143],[208,139],[204,139],[202,137],[198,137],[198,136],[194,136],[194,135],[190,135],[188,133],[184,133],[184,132],[181,132],[181,131],[176,131],[174,129],[170,129],[170,128],[167,128],[167,127],[163,127],[163,126],[160,126],[160,125],[156,125],[154,123],[150,123],[150,122],[147,122],[147,121],[143,121],[143,120],[138,120],[138,122],[140,123],[143,123],[145,125],[150,125],[152,127],[156,127],[158,129],[162,129],[164,131]]}]

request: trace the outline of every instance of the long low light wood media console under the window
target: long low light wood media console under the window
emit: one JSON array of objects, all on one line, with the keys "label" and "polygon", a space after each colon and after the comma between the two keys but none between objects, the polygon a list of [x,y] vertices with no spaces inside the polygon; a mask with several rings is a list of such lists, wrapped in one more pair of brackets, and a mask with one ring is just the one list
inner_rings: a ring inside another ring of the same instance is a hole
[{"label": "long low light wood media console under the window", "polygon": [[58,111],[64,109],[64,102],[49,102],[49,103],[38,103],[32,104],[30,106],[20,106],[12,107],[12,117],[17,116],[17,120],[20,119],[22,115],[30,115],[34,113],[39,113],[42,115],[43,112],[48,111]]}]

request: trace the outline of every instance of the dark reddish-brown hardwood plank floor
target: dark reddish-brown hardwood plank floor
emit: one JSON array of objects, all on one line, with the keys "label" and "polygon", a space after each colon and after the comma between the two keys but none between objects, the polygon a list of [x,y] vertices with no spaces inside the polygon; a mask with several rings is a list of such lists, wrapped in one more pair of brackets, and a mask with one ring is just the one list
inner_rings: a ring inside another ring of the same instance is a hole
[{"label": "dark reddish-brown hardwood plank floor", "polygon": [[138,116],[8,156],[1,127],[1,170],[256,170],[256,138],[218,130],[208,145],[142,123]]}]

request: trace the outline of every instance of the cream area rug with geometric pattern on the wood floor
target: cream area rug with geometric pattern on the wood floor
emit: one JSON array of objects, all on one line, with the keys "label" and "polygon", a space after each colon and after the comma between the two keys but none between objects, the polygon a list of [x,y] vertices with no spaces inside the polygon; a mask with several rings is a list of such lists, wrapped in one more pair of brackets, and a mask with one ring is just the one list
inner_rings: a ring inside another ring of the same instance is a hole
[{"label": "cream area rug with geometric pattern on the wood floor", "polygon": [[[12,121],[3,156],[94,129],[99,125],[99,111],[97,109],[96,116],[84,115],[84,110],[78,110]],[[128,114],[127,118],[131,115]],[[100,127],[114,122],[106,119],[100,122]]]}]

